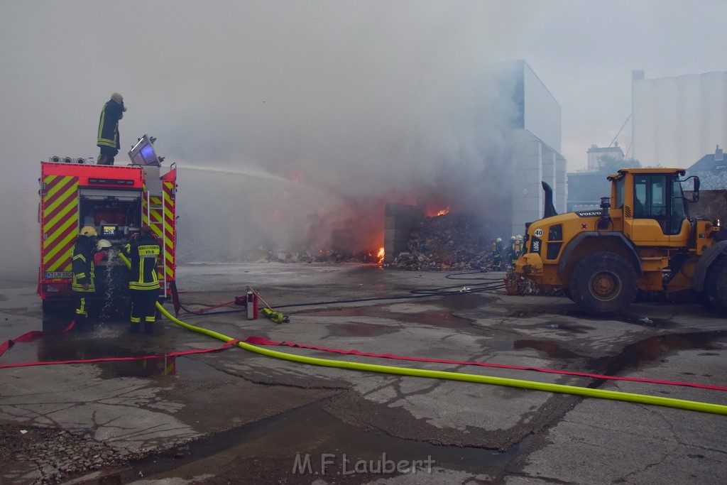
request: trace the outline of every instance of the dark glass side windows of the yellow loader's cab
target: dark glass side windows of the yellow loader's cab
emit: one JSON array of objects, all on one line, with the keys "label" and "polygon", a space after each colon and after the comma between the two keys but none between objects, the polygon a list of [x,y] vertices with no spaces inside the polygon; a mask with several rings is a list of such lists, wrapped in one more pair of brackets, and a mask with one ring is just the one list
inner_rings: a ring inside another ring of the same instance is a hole
[{"label": "dark glass side windows of the yellow loader's cab", "polygon": [[[678,234],[685,217],[681,185],[671,174],[634,176],[634,217],[654,219],[664,234]],[[678,193],[676,193],[678,191]]]}]

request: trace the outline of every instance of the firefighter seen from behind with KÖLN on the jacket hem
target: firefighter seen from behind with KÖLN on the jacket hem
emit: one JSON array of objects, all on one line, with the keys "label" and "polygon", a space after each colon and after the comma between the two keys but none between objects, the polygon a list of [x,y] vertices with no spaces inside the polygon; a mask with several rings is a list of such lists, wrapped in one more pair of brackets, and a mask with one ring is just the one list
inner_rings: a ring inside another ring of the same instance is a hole
[{"label": "firefighter seen from behind with K\u00d6LN on the jacket hem", "polygon": [[161,246],[148,225],[142,225],[140,233],[135,233],[129,244],[124,246],[124,255],[132,263],[129,273],[129,292],[132,300],[129,326],[131,333],[139,333],[142,319],[144,332],[154,333],[156,299],[159,294],[156,261],[160,254]]}]

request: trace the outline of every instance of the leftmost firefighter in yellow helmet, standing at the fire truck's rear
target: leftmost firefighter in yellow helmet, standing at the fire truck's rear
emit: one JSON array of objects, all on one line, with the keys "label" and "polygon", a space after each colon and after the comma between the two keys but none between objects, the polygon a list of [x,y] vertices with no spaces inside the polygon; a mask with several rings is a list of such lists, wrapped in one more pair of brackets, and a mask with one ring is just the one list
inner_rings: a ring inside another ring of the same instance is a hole
[{"label": "leftmost firefighter in yellow helmet, standing at the fire truck's rear", "polygon": [[73,321],[79,330],[90,329],[89,308],[91,298],[96,292],[94,282],[94,253],[96,252],[96,229],[90,225],[84,225],[73,245],[73,282],[71,289],[76,297],[76,316]]}]

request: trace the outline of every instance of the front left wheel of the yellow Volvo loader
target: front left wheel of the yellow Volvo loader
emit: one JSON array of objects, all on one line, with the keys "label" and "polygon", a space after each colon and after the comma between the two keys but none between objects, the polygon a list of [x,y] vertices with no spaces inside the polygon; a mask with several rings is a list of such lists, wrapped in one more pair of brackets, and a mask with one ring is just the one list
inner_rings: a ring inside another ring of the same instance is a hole
[{"label": "front left wheel of the yellow Volvo loader", "polygon": [[577,263],[569,290],[571,299],[592,315],[620,313],[636,297],[636,271],[618,254],[597,252]]}]

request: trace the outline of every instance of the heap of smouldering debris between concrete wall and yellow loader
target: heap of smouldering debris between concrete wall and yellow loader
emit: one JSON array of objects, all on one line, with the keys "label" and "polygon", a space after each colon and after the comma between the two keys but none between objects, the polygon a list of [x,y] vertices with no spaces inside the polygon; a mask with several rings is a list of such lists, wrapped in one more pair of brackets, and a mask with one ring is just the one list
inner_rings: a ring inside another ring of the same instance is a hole
[{"label": "heap of smouldering debris between concrete wall and yellow loader", "polygon": [[387,266],[404,270],[489,270],[492,241],[473,215],[424,217],[411,229],[406,249]]}]

